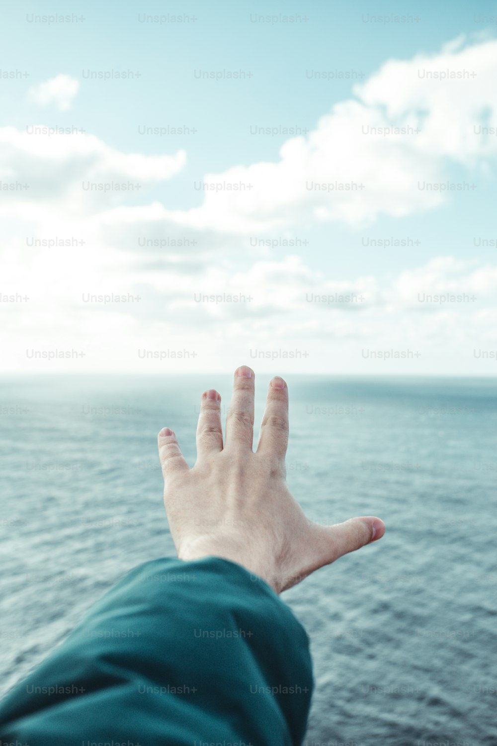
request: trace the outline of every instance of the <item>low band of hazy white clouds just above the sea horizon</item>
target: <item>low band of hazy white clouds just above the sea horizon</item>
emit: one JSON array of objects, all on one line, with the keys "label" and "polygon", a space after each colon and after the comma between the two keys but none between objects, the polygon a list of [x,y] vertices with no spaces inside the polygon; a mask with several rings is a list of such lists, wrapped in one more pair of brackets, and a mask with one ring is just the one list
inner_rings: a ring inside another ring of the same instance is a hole
[{"label": "low band of hazy white clouds just above the sea horizon", "polygon": [[[496,265],[438,257],[391,278],[336,280],[310,269],[301,257],[259,260],[247,272],[235,263],[211,266],[200,275],[174,266],[136,270],[132,262],[131,254],[102,251],[98,245],[45,248],[34,252],[27,270],[19,253],[11,251],[5,274],[30,301],[16,304],[1,327],[0,344],[8,350],[4,369],[195,372],[199,366],[215,371],[244,361],[259,372],[430,373],[440,366],[447,372],[490,372],[492,362],[475,360],[472,351],[494,345]],[[83,294],[106,293],[140,300],[83,301]],[[200,303],[199,293],[244,295],[245,302]],[[466,297],[421,302],[418,294]],[[3,304],[1,312],[7,315],[10,309]],[[420,351],[420,359],[385,366],[364,360],[362,353],[406,348]],[[84,351],[85,357],[33,361],[28,349]],[[142,360],[139,349],[189,350],[196,357]],[[254,351],[278,350],[308,352],[308,357],[250,357]]]}]

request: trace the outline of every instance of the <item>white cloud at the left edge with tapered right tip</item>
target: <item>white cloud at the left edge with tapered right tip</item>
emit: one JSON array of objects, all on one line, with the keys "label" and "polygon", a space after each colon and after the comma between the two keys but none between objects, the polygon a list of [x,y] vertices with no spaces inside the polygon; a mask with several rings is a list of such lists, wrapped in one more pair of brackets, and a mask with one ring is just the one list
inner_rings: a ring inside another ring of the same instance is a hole
[{"label": "white cloud at the left edge with tapered right tip", "polygon": [[[7,210],[32,219],[46,210],[95,216],[106,207],[139,198],[142,189],[177,175],[186,153],[122,153],[91,134],[51,134],[0,128],[0,178],[15,186],[3,193]],[[1,209],[1,208],[0,208]]]}]

